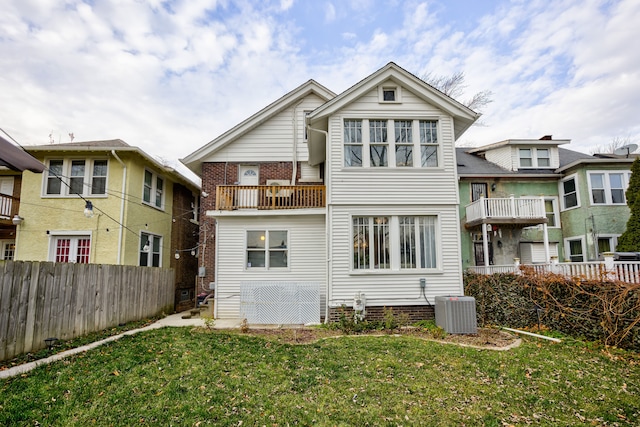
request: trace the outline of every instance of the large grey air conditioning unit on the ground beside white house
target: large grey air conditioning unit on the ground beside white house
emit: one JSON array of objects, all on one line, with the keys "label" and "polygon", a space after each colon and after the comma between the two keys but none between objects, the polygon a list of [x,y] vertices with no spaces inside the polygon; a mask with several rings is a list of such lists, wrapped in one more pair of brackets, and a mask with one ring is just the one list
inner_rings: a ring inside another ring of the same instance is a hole
[{"label": "large grey air conditioning unit on the ground beside white house", "polygon": [[437,296],[436,325],[448,334],[476,334],[476,299],[466,296]]}]

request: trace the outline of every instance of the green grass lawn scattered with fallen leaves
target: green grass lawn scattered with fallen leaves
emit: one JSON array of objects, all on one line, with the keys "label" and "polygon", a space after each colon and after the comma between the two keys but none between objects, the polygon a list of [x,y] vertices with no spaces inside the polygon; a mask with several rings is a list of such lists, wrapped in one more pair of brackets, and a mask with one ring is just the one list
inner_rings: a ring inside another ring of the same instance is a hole
[{"label": "green grass lawn scattered with fallen leaves", "polygon": [[0,425],[639,425],[639,360],[579,342],[164,328],[3,380]]}]

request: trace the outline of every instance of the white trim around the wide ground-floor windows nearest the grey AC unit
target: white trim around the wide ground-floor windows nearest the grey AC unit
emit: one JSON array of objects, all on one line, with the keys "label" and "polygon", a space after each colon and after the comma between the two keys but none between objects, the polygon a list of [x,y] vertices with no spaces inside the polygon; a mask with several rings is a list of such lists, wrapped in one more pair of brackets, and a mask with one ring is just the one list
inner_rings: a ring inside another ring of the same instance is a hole
[{"label": "white trim around the wide ground-floor windows nearest the grey AC unit", "polygon": [[[349,245],[349,274],[350,275],[385,275],[385,274],[430,274],[430,273],[441,273],[442,272],[442,250],[438,250],[436,253],[436,267],[435,268],[401,268],[400,265],[400,217],[408,216],[408,217],[435,217],[435,242],[436,248],[442,247],[442,236],[441,236],[441,219],[440,215],[435,213],[402,213],[402,214],[382,214],[382,213],[362,213],[362,214],[352,214],[349,215],[349,241],[353,242],[353,218],[354,217],[365,217],[365,218],[375,218],[375,217],[387,217],[389,218],[389,262],[391,268],[380,268],[375,269],[372,268],[371,265],[369,268],[353,268],[353,259],[354,259],[354,247],[353,244]],[[419,252],[418,252],[419,254]],[[417,256],[416,259],[419,259]]]}]

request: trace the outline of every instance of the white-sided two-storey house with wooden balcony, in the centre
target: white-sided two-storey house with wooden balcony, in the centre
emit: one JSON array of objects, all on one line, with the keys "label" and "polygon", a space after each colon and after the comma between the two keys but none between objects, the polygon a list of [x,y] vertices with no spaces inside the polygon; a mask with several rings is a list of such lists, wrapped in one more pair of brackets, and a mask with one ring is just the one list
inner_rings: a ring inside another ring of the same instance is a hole
[{"label": "white-sided two-storey house with wooden balcony, in the centre", "polygon": [[424,319],[462,295],[454,142],[478,116],[389,63],[337,95],[310,80],[182,159],[216,316]]}]

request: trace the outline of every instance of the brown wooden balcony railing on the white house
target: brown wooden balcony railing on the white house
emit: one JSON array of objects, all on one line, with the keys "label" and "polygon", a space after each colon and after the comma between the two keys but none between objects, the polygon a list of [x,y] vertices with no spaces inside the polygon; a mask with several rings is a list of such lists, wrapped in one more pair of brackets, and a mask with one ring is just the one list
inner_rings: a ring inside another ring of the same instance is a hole
[{"label": "brown wooden balcony railing on the white house", "polygon": [[324,185],[219,185],[216,209],[304,209],[326,204]]}]

